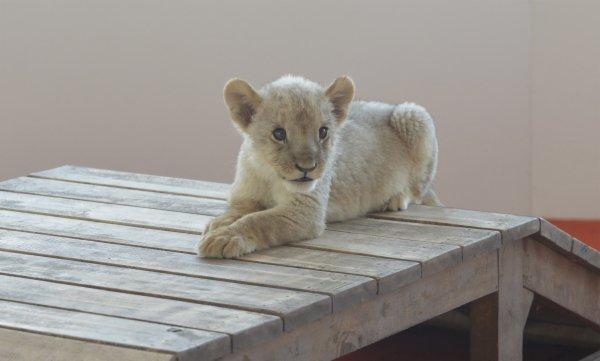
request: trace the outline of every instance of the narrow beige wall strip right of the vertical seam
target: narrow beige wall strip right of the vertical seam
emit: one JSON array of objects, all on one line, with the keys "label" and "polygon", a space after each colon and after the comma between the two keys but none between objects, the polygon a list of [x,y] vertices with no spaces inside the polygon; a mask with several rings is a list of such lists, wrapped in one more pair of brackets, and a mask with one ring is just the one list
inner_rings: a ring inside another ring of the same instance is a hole
[{"label": "narrow beige wall strip right of the vertical seam", "polygon": [[533,211],[600,218],[600,1],[533,4]]}]

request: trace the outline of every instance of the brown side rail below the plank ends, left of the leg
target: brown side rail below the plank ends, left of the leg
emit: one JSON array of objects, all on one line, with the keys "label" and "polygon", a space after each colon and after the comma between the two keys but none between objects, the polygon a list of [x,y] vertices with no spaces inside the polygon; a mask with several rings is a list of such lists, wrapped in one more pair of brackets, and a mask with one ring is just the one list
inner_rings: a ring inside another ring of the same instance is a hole
[{"label": "brown side rail below the plank ends, left of the leg", "polygon": [[224,361],[332,360],[495,292],[497,286],[497,255],[489,253]]}]

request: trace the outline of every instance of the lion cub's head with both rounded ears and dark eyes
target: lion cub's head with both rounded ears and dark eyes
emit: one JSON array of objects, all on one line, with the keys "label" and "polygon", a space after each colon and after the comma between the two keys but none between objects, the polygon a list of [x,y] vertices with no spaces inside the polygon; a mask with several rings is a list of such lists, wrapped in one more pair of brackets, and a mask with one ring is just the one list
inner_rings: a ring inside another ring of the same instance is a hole
[{"label": "lion cub's head with both rounded ears and dark eyes", "polygon": [[256,91],[244,80],[225,86],[231,118],[255,155],[293,191],[310,191],[323,175],[354,96],[349,77],[327,89],[285,76]]}]

